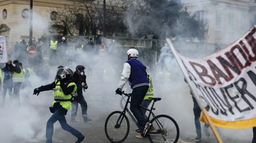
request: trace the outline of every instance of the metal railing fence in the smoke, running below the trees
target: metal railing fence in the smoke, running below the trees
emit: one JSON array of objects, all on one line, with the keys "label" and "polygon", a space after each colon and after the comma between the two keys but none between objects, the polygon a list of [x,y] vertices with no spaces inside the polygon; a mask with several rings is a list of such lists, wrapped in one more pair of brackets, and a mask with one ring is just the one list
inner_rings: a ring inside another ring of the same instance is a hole
[{"label": "metal railing fence in the smoke, running below the trees", "polygon": [[[63,36],[53,36],[56,40],[61,41]],[[95,43],[95,36],[65,36],[68,50],[74,49],[74,47],[78,43],[82,43],[83,45],[87,45],[90,41]],[[226,45],[219,44],[219,43],[202,43],[202,42],[189,42],[189,41],[172,41],[173,46],[176,50],[180,53],[211,53],[215,52],[216,50],[222,49]],[[159,54],[161,53],[162,47],[166,45],[165,40],[158,40],[158,39],[140,39],[140,38],[120,38],[120,37],[107,37],[103,38],[103,43],[106,46],[106,49],[109,45],[115,44],[116,47],[120,49],[128,49],[128,48],[136,48],[139,50],[140,55],[142,57],[150,57],[152,59],[152,65],[155,65]],[[15,43],[8,43],[9,49],[11,49],[8,53],[13,53],[13,46]],[[45,45],[49,45],[48,42]],[[47,46],[45,47],[44,56],[48,56]]]}]

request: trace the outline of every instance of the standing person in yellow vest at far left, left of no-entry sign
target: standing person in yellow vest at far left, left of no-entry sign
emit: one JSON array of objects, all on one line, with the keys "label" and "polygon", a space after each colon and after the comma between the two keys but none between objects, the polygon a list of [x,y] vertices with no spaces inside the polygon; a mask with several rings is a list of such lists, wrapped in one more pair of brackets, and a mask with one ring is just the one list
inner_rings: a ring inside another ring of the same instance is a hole
[{"label": "standing person in yellow vest at far left, left of no-entry sign", "polygon": [[13,64],[9,64],[9,66],[10,70],[13,71],[13,101],[15,104],[20,105],[20,86],[23,82],[22,63],[20,63],[18,60],[15,60],[13,61]]}]

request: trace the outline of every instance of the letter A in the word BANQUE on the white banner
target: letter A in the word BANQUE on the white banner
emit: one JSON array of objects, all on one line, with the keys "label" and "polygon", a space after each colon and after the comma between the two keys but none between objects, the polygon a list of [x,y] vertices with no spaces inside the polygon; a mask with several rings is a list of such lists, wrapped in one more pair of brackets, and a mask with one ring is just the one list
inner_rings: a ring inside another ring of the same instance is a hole
[{"label": "letter A in the word BANQUE on the white banner", "polygon": [[224,78],[226,81],[229,81],[229,77],[224,74],[211,60],[207,60],[209,67],[211,68],[212,73],[214,74],[215,79],[218,81],[218,84],[221,85],[222,82],[219,78]]}]

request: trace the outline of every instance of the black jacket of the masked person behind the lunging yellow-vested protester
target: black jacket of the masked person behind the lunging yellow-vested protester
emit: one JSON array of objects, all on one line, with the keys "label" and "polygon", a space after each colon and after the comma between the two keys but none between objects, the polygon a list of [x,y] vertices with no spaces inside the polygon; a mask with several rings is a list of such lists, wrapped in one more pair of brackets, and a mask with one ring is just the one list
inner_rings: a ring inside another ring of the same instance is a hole
[{"label": "black jacket of the masked person behind the lunging yellow-vested protester", "polygon": [[84,87],[81,85],[81,83],[83,83],[83,82],[86,83],[86,75],[82,76],[82,75],[77,74],[77,72],[74,72],[73,82],[76,83],[76,86],[77,86],[77,96],[83,96],[83,88]]}]

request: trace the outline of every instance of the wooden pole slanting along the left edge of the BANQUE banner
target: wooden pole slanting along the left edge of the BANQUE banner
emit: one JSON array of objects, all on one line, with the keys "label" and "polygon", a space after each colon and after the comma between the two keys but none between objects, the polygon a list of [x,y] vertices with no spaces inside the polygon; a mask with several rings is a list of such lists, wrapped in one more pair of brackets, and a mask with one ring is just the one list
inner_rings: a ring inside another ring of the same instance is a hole
[{"label": "wooden pole slanting along the left edge of the BANQUE banner", "polygon": [[[189,86],[192,85],[189,77],[187,77],[187,74],[185,74],[185,72],[184,72],[184,71],[186,71],[186,68],[184,66],[182,66],[183,65],[182,60],[180,60],[179,56],[177,55],[176,50],[175,50],[175,48],[172,45],[172,42],[170,41],[169,38],[166,38],[166,42],[168,43],[168,45],[170,47],[170,50],[172,50],[173,56],[175,56],[176,61],[177,61],[178,65],[179,65],[180,69],[182,69],[182,73],[183,73],[185,79],[187,80],[187,83],[189,84]],[[211,126],[212,132],[214,133],[216,140],[219,143],[223,143],[221,137],[219,136],[218,131],[216,130],[216,127],[214,126],[214,123],[212,122],[212,120],[209,117],[206,109],[202,105],[201,100],[200,100],[197,92],[192,87],[191,87],[191,91],[193,92],[193,96],[194,96],[195,100],[197,101],[197,104],[199,105],[202,113],[204,113],[204,116],[207,119],[207,122],[209,123],[209,126]]]}]

